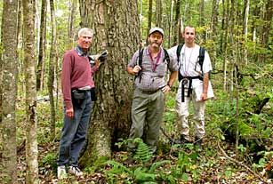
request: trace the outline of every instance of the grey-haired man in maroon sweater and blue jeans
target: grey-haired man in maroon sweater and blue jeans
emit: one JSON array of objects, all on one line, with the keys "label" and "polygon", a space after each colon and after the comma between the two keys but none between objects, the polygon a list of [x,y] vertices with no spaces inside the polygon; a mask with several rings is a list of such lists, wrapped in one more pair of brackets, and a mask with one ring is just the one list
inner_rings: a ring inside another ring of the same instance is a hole
[{"label": "grey-haired man in maroon sweater and blue jeans", "polygon": [[89,47],[92,44],[91,28],[81,28],[78,32],[78,45],[66,52],[62,60],[61,87],[64,100],[64,120],[61,130],[58,164],[58,178],[68,173],[81,177],[83,172],[77,167],[77,160],[84,146],[89,119],[91,116],[91,89],[95,86],[92,75],[100,67],[100,60],[91,66]]}]

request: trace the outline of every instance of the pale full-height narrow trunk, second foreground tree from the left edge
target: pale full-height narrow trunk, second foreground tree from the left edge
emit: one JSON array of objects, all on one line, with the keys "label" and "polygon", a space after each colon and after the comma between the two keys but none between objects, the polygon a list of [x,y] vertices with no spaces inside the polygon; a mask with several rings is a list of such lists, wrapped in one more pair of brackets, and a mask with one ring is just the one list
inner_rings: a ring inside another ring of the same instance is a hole
[{"label": "pale full-height narrow trunk, second foreground tree from the left edge", "polygon": [[23,1],[24,63],[26,77],[26,183],[38,183],[36,118],[35,0]]}]

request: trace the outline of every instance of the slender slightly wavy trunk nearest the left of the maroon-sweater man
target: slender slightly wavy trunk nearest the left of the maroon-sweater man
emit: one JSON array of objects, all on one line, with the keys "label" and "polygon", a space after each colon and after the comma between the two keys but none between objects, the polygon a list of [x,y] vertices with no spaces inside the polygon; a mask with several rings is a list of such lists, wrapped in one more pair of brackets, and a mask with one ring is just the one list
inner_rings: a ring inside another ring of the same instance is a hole
[{"label": "slender slightly wavy trunk nearest the left of the maroon-sweater man", "polygon": [[49,100],[51,105],[51,140],[55,139],[55,122],[56,122],[56,112],[55,112],[55,104],[54,104],[54,96],[53,96],[53,85],[54,85],[54,74],[55,74],[55,60],[56,60],[56,20],[55,20],[55,10],[54,10],[54,0],[50,0],[50,10],[51,10],[51,20],[52,20],[52,44],[51,44],[51,52],[50,52],[50,60],[49,60],[49,73],[48,73],[48,82],[47,88],[49,93]]}]

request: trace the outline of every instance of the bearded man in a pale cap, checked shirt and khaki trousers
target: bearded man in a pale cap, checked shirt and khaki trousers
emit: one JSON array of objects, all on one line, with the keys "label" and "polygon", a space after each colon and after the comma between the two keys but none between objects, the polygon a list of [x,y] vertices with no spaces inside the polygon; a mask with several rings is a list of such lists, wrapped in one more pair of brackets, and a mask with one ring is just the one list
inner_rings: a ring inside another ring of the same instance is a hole
[{"label": "bearded man in a pale cap, checked shirt and khaki trousers", "polygon": [[[165,93],[172,90],[178,75],[177,62],[173,60],[168,63],[165,60],[167,54],[161,46],[163,40],[162,28],[150,28],[148,47],[135,52],[127,68],[128,73],[135,76],[132,127],[129,138],[132,140],[141,138],[153,153],[157,150],[157,140],[165,108]],[[166,82],[167,68],[171,74]],[[136,145],[131,141],[128,147],[133,151]]]}]

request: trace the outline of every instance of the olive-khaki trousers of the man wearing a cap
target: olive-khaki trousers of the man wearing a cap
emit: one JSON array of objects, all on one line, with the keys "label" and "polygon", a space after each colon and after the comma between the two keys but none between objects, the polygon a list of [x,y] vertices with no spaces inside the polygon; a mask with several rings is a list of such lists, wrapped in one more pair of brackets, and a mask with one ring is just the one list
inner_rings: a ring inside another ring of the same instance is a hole
[{"label": "olive-khaki trousers of the man wearing a cap", "polygon": [[[162,124],[165,108],[165,96],[161,90],[154,93],[141,92],[136,89],[132,100],[132,127],[129,138],[141,138],[154,153]],[[129,148],[136,148],[132,142]]]}]

